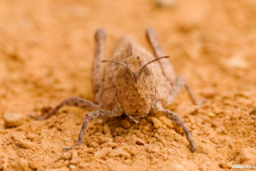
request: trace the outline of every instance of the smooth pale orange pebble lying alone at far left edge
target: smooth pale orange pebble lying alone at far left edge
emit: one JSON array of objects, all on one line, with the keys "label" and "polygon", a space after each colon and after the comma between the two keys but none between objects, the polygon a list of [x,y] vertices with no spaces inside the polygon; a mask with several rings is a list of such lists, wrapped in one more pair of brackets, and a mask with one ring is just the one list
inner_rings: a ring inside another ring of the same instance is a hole
[{"label": "smooth pale orange pebble lying alone at far left edge", "polygon": [[24,116],[20,113],[5,113],[3,118],[6,127],[20,126],[24,122]]}]

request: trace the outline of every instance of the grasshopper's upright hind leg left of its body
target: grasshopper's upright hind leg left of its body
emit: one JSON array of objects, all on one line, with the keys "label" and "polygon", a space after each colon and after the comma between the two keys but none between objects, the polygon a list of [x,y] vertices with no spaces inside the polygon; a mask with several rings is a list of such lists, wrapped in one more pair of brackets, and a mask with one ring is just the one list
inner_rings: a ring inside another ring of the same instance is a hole
[{"label": "grasshopper's upright hind leg left of its body", "polygon": [[95,33],[96,48],[94,53],[94,60],[92,65],[92,89],[95,94],[95,102],[100,101],[100,87],[102,85],[103,78],[103,63],[101,61],[104,59],[104,41],[105,33],[102,29],[98,29]]}]

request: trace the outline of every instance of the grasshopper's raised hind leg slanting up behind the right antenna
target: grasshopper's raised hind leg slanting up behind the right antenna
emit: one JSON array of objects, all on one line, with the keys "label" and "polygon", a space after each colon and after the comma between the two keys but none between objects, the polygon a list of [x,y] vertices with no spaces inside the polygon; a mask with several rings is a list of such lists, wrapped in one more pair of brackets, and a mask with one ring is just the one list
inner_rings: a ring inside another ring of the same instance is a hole
[{"label": "grasshopper's raised hind leg slanting up behind the right antenna", "polygon": [[[153,28],[147,29],[147,37],[151,47],[154,50],[156,58],[167,56],[162,49],[156,31]],[[170,60],[168,58],[164,58],[159,60],[159,63],[161,64],[165,77],[172,83],[176,76]]]}]

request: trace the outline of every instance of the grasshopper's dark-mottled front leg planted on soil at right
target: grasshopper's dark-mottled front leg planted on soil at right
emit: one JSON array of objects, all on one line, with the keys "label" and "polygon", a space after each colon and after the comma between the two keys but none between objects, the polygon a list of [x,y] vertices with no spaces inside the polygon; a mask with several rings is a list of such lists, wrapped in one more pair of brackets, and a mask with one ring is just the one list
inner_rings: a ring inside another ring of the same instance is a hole
[{"label": "grasshopper's dark-mottled front leg planted on soil at right", "polygon": [[191,146],[192,152],[196,151],[196,145],[195,145],[195,143],[193,141],[193,138],[192,138],[191,134],[188,131],[186,123],[185,123],[185,121],[183,121],[181,119],[181,117],[179,115],[177,115],[176,113],[172,112],[171,110],[164,109],[162,107],[160,107],[160,108],[158,108],[158,109],[156,109],[154,111],[155,111],[155,113],[160,113],[160,114],[165,115],[166,117],[171,119],[172,122],[174,122],[176,126],[180,127],[184,131],[184,133],[185,133],[185,135],[187,137],[187,140],[188,140],[189,145]]}]

